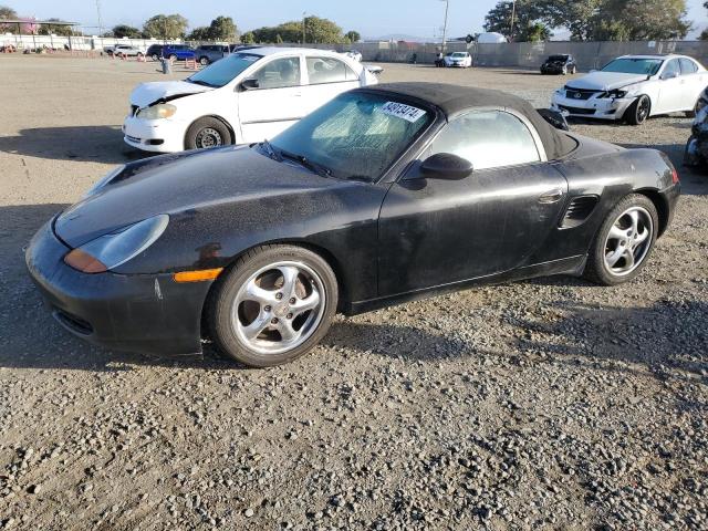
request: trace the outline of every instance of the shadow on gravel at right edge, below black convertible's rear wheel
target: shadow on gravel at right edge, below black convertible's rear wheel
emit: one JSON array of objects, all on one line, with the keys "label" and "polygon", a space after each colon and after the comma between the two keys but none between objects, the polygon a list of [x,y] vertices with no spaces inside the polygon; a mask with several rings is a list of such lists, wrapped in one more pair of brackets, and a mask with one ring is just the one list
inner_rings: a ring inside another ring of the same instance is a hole
[{"label": "shadow on gravel at right edge, below black convertible's rear wheel", "polygon": [[551,322],[510,319],[522,330],[522,351],[646,365],[708,376],[708,303],[660,301],[649,308],[556,303]]}]

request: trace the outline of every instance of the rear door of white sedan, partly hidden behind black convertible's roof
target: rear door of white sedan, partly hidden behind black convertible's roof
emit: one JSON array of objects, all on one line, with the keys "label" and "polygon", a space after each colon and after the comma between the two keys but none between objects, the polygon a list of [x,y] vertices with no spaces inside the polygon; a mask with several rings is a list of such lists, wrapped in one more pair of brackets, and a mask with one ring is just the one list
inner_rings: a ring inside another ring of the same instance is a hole
[{"label": "rear door of white sedan, partly hidden behind black convertible's roof", "polygon": [[360,86],[360,79],[344,61],[335,58],[305,56],[305,87],[303,103],[311,113],[343,92]]}]

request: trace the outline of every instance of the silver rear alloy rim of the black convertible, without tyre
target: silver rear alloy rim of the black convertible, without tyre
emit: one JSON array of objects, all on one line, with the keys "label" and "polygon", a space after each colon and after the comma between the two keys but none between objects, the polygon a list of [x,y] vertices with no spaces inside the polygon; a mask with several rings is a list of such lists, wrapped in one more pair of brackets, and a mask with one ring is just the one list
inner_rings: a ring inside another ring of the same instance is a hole
[{"label": "silver rear alloy rim of the black convertible, without tyre", "polygon": [[654,222],[643,207],[622,212],[605,239],[605,268],[616,277],[625,277],[637,269],[652,247]]}]

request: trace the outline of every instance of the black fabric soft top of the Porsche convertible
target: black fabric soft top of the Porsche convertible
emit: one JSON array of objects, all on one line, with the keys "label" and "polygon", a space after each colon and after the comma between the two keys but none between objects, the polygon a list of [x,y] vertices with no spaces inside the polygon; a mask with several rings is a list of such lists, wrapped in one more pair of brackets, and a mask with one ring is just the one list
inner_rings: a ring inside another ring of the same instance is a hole
[{"label": "black fabric soft top of the Porsche convertible", "polygon": [[449,85],[446,83],[383,83],[367,86],[367,91],[398,93],[408,97],[416,97],[435,105],[445,113],[448,119],[467,110],[475,107],[511,108],[523,114],[541,137],[545,155],[553,160],[568,155],[576,146],[576,142],[562,131],[552,127],[531,106],[529,102],[501,91],[473,88],[469,86]]}]

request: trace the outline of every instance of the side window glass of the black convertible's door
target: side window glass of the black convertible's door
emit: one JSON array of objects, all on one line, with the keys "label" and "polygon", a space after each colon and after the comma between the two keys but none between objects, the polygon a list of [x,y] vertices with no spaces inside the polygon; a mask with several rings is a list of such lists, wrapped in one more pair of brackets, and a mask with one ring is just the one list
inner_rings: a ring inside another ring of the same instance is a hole
[{"label": "side window glass of the black convertible's door", "polygon": [[537,163],[541,158],[531,132],[502,111],[478,111],[451,121],[430,147],[430,155],[451,153],[475,169]]}]

